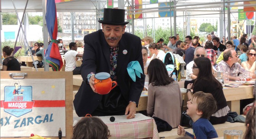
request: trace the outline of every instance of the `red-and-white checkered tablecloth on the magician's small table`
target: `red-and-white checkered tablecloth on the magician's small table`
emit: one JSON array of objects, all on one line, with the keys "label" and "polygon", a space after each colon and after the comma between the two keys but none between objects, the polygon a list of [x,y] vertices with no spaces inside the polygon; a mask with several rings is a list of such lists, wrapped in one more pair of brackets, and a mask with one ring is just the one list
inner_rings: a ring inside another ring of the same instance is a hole
[{"label": "red-and-white checkered tablecloth on the magician's small table", "polygon": [[143,139],[147,137],[159,139],[157,125],[151,117],[136,114],[135,118],[126,119],[126,115],[118,115],[114,116],[114,122],[110,122],[110,117],[99,117],[109,128],[111,135],[109,139]]}]

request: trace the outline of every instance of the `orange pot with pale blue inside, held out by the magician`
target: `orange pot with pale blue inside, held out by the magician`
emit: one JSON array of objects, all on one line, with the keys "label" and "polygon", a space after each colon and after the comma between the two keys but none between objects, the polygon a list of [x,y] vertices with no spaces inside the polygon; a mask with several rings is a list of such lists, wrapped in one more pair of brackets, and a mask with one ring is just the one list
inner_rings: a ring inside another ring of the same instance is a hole
[{"label": "orange pot with pale blue inside, held out by the magician", "polygon": [[[101,95],[109,93],[113,88],[117,86],[117,82],[110,79],[109,73],[97,73],[94,77],[94,88],[96,89],[96,92]],[[115,83],[115,86],[112,87],[112,83]]]}]

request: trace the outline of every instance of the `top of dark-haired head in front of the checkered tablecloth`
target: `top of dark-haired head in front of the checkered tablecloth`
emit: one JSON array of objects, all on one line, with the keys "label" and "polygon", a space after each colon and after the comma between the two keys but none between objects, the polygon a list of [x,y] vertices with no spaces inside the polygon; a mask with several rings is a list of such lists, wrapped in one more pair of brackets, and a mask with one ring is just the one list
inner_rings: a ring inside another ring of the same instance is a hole
[{"label": "top of dark-haired head in front of the checkered tablecloth", "polygon": [[71,139],[107,139],[107,125],[97,117],[84,117],[73,127]]}]

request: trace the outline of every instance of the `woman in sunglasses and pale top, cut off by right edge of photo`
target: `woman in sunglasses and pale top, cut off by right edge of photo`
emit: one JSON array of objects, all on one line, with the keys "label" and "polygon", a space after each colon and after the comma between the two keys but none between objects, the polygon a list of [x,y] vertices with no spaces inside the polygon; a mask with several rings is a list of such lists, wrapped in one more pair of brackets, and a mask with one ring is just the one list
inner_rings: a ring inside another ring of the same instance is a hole
[{"label": "woman in sunglasses and pale top, cut off by right edge of photo", "polygon": [[255,48],[249,48],[248,51],[246,52],[247,54],[247,61],[242,62],[241,66],[245,68],[245,70],[250,71],[251,73],[255,73],[255,56],[256,56],[256,51]]}]

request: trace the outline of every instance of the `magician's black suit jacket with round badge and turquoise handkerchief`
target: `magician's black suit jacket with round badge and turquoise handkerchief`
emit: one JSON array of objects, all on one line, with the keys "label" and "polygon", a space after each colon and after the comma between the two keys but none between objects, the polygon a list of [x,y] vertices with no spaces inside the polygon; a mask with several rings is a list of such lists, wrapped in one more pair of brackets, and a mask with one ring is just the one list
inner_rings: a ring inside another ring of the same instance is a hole
[{"label": "magician's black suit jacket with round badge and turquoise handkerchief", "polygon": [[[75,112],[79,117],[91,114],[102,99],[102,95],[94,93],[90,85],[86,83],[87,75],[91,72],[110,73],[110,50],[102,30],[86,35],[83,40],[85,46],[80,68],[83,82],[73,101]],[[145,75],[141,74],[141,78],[136,76],[136,82],[133,82],[127,72],[127,65],[131,61],[138,61],[144,73],[141,39],[125,32],[119,41],[118,47],[117,84],[127,104],[129,101],[134,101],[138,104],[144,87]],[[127,54],[123,53],[124,50],[127,51]]]}]

